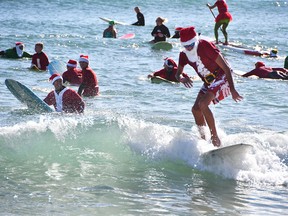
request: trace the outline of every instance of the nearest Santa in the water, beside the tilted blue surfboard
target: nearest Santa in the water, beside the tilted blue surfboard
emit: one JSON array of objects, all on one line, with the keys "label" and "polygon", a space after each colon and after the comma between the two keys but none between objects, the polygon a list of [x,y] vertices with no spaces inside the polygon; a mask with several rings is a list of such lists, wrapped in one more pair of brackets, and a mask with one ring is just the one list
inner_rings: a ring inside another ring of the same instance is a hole
[{"label": "nearest Santa in the water, beside the tilted blue surfboard", "polygon": [[57,112],[83,113],[85,103],[76,91],[63,86],[63,79],[60,74],[53,74],[49,80],[55,90],[51,91],[44,102],[49,106],[53,105]]}]

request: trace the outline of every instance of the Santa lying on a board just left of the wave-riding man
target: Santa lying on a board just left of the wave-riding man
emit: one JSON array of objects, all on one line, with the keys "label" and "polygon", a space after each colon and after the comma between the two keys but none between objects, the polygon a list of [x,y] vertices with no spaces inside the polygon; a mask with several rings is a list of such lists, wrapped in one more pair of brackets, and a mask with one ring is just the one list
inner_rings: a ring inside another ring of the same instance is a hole
[{"label": "Santa lying on a board just left of the wave-riding man", "polygon": [[[163,79],[172,81],[172,82],[179,82],[175,75],[177,73],[177,64],[172,58],[165,58],[163,68],[158,70],[154,73],[148,75],[148,78],[159,76]],[[184,77],[188,77],[186,73],[182,73]]]}]

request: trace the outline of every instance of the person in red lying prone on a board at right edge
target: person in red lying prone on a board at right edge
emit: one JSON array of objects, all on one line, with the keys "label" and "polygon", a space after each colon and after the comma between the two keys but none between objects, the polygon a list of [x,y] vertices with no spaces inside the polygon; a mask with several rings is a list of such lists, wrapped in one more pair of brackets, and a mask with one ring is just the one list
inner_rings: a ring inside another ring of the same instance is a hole
[{"label": "person in red lying prone on a board at right edge", "polygon": [[256,62],[255,69],[243,74],[243,77],[257,76],[266,79],[288,80],[288,70],[286,68],[266,67],[264,62]]}]

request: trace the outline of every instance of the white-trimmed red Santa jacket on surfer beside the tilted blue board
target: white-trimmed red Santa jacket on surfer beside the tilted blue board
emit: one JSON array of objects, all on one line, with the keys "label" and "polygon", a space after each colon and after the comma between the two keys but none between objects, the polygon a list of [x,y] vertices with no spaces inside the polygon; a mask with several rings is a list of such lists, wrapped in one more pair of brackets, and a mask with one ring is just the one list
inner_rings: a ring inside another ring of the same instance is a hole
[{"label": "white-trimmed red Santa jacket on surfer beside the tilted blue board", "polygon": [[48,105],[53,105],[57,112],[82,113],[85,108],[80,95],[68,87],[64,87],[59,94],[55,90],[51,91],[44,101]]}]

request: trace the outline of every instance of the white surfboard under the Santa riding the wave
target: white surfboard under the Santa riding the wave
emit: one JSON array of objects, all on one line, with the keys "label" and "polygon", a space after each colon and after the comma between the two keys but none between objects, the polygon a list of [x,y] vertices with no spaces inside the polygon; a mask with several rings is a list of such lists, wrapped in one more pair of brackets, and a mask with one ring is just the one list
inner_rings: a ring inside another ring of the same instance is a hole
[{"label": "white surfboard under the Santa riding the wave", "polygon": [[231,146],[225,146],[222,148],[214,149],[208,152],[203,153],[201,156],[204,162],[208,162],[209,164],[213,164],[214,160],[219,158],[223,159],[225,157],[240,157],[246,154],[251,148],[253,148],[250,144],[235,144]]}]

